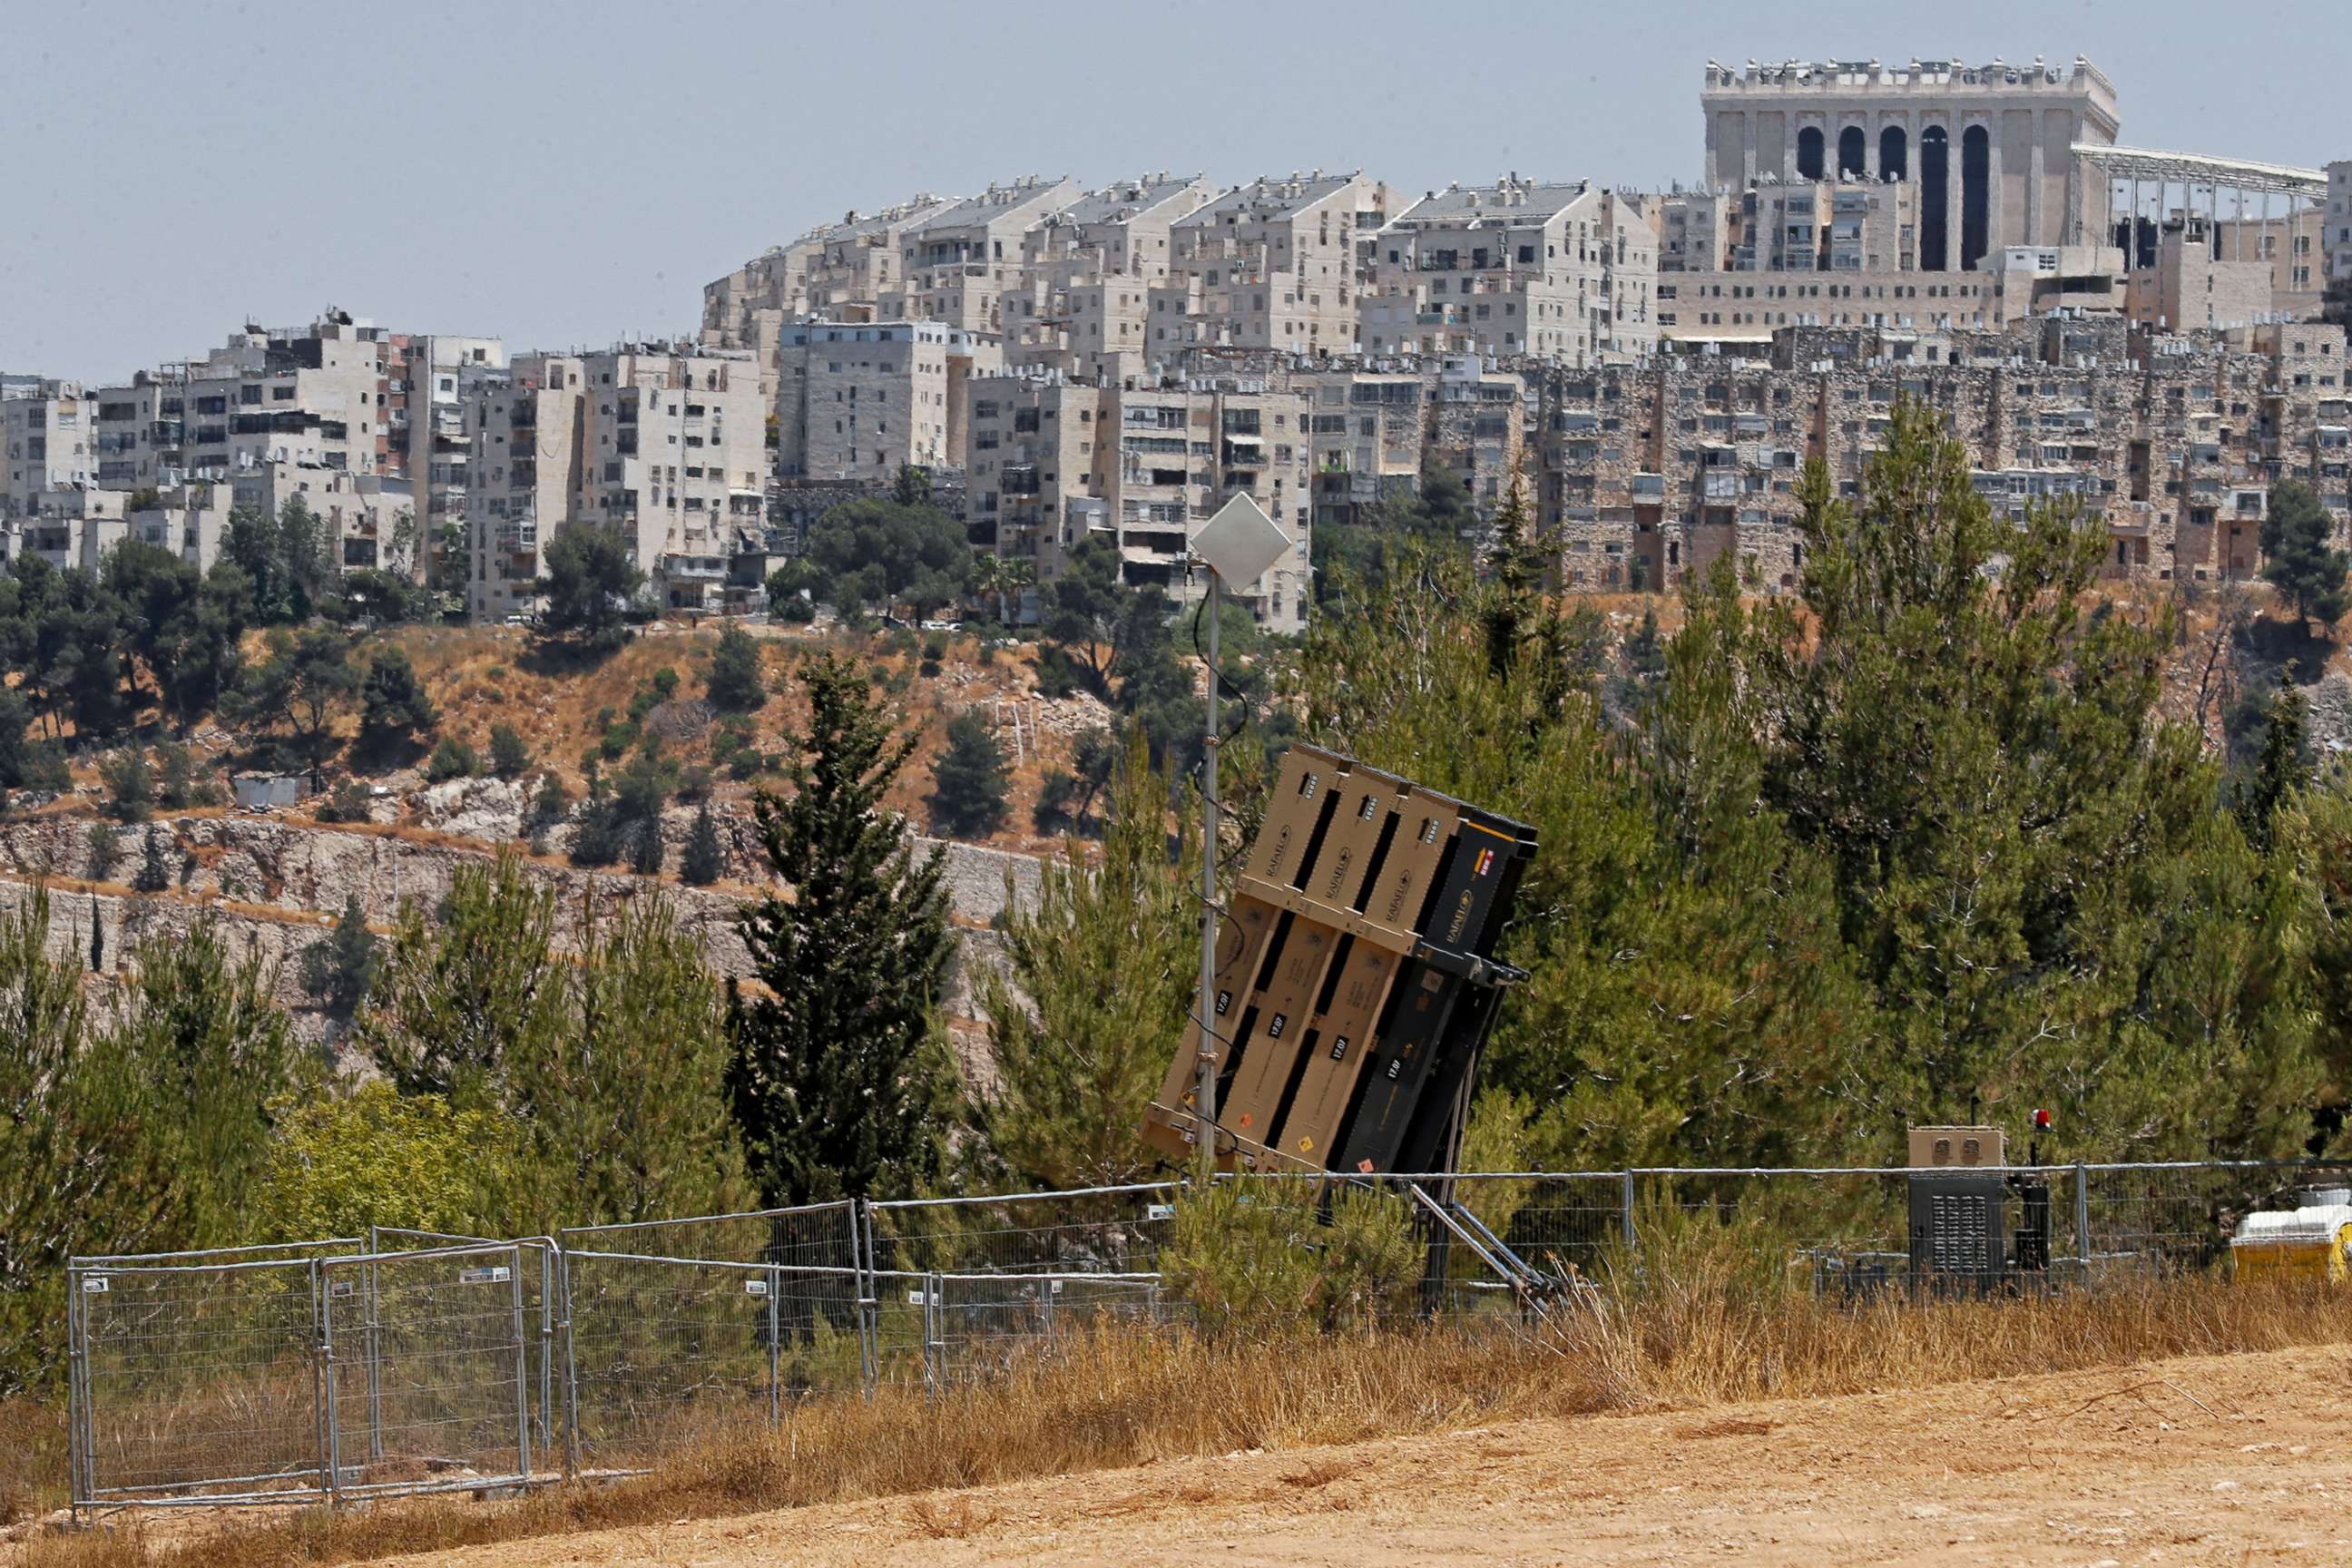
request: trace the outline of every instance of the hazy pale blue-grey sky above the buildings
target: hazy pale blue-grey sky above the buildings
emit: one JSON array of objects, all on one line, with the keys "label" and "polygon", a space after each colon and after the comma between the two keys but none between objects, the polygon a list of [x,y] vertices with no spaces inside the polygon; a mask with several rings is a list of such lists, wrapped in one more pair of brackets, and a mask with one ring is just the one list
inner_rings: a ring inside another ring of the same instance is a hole
[{"label": "hazy pale blue-grey sky above the buildings", "polygon": [[2352,158],[2347,16],[0,0],[0,369],[122,378],[327,303],[510,348],[680,331],[703,282],[821,219],[1030,172],[1689,181],[1710,54],[2089,54],[2133,146],[2319,165]]}]

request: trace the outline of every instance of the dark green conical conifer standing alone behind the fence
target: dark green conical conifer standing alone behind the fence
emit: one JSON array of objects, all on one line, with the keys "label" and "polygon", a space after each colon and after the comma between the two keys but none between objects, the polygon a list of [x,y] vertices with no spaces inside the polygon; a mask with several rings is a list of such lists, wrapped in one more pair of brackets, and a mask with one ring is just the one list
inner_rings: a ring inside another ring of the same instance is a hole
[{"label": "dark green conical conifer standing alone behind the fence", "polygon": [[767,1204],[910,1192],[938,1171],[953,1067],[938,1030],[948,964],[941,851],[920,863],[884,811],[915,750],[866,672],[802,665],[807,733],[790,797],[757,797],[769,870],[793,889],[743,910],[762,994],[739,997],[729,1095]]}]

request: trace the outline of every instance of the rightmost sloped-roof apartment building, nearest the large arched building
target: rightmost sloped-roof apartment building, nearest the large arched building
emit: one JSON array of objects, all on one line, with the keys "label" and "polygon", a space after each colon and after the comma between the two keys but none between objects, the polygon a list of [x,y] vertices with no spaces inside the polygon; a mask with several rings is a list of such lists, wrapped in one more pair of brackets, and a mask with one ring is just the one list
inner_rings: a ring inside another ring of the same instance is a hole
[{"label": "rightmost sloped-roof apartment building, nearest the large arched building", "polygon": [[1656,261],[1639,205],[1585,181],[1446,186],[1374,237],[1364,353],[1642,357]]}]

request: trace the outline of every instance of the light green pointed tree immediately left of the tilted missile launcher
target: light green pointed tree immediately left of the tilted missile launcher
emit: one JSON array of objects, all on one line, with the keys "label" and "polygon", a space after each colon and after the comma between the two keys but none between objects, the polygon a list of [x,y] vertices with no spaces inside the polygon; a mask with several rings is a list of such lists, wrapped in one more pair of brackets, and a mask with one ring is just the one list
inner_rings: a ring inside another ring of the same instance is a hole
[{"label": "light green pointed tree immediately left of the tilted missile launcher", "polygon": [[1004,922],[1004,969],[981,976],[995,1084],[974,1128],[1021,1185],[1094,1187],[1157,1164],[1136,1135],[1200,978],[1195,844],[1169,858],[1169,780],[1129,736],[1103,853],[1049,860]]}]

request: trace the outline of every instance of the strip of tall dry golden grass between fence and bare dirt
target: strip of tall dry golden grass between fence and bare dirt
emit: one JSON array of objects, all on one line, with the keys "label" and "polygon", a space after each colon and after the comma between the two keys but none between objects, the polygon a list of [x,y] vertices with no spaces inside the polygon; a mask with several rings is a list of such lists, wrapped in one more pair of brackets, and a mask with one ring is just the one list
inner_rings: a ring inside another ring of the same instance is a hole
[{"label": "strip of tall dry golden grass between fence and bare dirt", "polygon": [[[1700,1272],[1705,1274],[1705,1272]],[[2352,1298],[2190,1279],[2020,1302],[1839,1309],[1729,1276],[1649,1284],[1529,1338],[1414,1333],[1211,1345],[1101,1333],[941,1399],[823,1399],[779,1432],[717,1434],[659,1474],[522,1502],[416,1500],[313,1509],[212,1533],[47,1535],[24,1568],[280,1568],[348,1563],[567,1530],[889,1497],[1235,1448],[1442,1432],[1496,1418],[1705,1408],[2063,1373],[2164,1356],[2345,1340]],[[1717,1422],[1698,1432],[1745,1432]],[[1308,1467],[1291,1486],[1329,1476]],[[920,1497],[917,1528],[960,1537],[969,1502]]]}]

